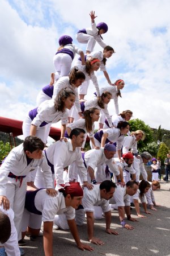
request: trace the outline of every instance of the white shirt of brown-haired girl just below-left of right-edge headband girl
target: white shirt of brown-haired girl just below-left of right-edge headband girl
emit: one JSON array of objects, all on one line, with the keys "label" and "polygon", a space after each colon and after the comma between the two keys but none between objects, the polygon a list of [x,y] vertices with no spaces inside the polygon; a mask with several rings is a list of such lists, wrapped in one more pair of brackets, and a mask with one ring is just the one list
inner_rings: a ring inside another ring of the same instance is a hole
[{"label": "white shirt of brown-haired girl just below-left of right-edge headband girl", "polygon": [[92,100],[87,100],[86,102],[84,102],[84,106],[85,106],[85,110],[88,110],[90,108],[97,108],[99,110],[101,110],[106,118],[108,119],[108,123],[109,123],[109,126],[112,127],[112,118],[111,116],[109,115],[109,112],[108,112],[108,105],[107,104],[104,104],[104,109],[101,109],[100,106],[98,105],[97,103],[97,98],[94,98]]}]

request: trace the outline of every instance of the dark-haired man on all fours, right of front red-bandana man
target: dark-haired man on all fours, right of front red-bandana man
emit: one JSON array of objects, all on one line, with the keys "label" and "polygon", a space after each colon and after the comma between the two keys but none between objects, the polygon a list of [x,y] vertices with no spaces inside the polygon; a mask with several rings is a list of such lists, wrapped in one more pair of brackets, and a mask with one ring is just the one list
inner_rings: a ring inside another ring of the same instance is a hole
[{"label": "dark-haired man on all fours, right of front red-bandana man", "polygon": [[[97,151],[97,150],[96,150]],[[87,233],[88,240],[96,245],[104,245],[104,242],[94,236],[94,212],[95,206],[100,206],[105,214],[106,229],[108,234],[118,233],[112,230],[111,227],[111,207],[109,206],[109,199],[113,197],[116,184],[111,180],[105,180],[100,185],[94,186],[94,189],[89,191],[84,188],[84,196],[82,199],[82,205],[87,215]]]}]

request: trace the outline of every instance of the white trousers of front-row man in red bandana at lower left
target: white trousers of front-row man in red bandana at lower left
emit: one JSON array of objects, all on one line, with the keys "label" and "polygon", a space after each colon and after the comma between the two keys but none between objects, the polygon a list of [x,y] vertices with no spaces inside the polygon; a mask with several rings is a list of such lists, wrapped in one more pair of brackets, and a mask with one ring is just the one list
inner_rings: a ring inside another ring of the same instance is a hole
[{"label": "white trousers of front-row man in red bandana at lower left", "polygon": [[22,218],[22,232],[27,230],[27,226],[32,229],[40,229],[42,222],[42,215],[28,212],[24,208],[23,218]]}]

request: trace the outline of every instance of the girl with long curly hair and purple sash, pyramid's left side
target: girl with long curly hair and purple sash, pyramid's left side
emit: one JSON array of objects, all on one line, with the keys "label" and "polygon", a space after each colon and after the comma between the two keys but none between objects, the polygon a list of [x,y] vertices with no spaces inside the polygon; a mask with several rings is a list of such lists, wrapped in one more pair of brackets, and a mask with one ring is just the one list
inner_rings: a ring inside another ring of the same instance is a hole
[{"label": "girl with long curly hair and purple sash, pyramid's left side", "polygon": [[59,91],[55,100],[44,101],[36,109],[29,111],[28,116],[23,122],[24,138],[28,135],[36,135],[46,143],[48,134],[46,134],[46,125],[48,123],[57,123],[61,120],[61,139],[64,137],[68,113],[74,105],[75,93],[70,88]]}]

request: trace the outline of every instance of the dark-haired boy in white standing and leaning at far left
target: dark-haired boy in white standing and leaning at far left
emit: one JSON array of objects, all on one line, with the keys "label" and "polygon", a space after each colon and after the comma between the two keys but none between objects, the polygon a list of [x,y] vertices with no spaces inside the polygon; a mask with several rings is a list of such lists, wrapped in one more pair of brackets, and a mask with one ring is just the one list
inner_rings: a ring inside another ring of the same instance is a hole
[{"label": "dark-haired boy in white standing and leaning at far left", "polygon": [[47,188],[46,191],[50,195],[56,194],[53,189],[52,172],[46,159],[42,156],[43,149],[44,143],[40,138],[28,136],[24,139],[23,144],[11,150],[0,167],[0,201],[5,208],[6,198],[10,201],[10,207],[15,214],[14,223],[18,232],[18,241],[21,239],[21,221],[27,189],[26,176],[29,172],[40,166]]}]

